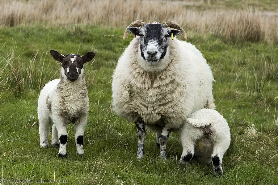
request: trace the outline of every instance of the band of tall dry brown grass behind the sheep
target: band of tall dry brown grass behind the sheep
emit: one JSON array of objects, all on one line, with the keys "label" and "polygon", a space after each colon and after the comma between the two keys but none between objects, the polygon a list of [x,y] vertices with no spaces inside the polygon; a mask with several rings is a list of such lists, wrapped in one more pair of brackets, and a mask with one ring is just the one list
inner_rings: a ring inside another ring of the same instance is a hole
[{"label": "band of tall dry brown grass behind the sheep", "polygon": [[278,42],[278,12],[194,10],[188,1],[161,0],[0,0],[0,27],[46,23],[125,27],[133,20],[174,20],[185,30],[210,33],[226,42]]}]

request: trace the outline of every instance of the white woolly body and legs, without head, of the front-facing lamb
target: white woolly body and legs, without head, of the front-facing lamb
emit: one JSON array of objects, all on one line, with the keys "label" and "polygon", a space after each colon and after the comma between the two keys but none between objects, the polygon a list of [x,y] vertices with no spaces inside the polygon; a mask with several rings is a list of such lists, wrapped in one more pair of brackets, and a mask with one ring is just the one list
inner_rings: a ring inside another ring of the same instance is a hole
[{"label": "white woolly body and legs, without head, of the front-facing lamb", "polygon": [[[59,145],[60,136],[67,135],[67,124],[74,123],[77,153],[79,155],[84,153],[83,135],[87,124],[89,98],[83,71],[82,69],[76,81],[70,82],[66,79],[64,69],[61,68],[60,79],[48,82],[41,90],[38,99],[41,147],[48,147],[51,120],[53,121],[52,146]],[[78,136],[82,136],[82,144],[78,143]],[[66,155],[66,143],[63,145],[60,143],[59,155]]]}]

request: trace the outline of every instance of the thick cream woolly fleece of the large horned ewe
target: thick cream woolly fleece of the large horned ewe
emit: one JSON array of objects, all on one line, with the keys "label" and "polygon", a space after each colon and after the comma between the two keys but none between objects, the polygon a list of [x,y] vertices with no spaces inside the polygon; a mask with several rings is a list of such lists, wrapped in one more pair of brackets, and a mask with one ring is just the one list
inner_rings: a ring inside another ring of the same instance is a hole
[{"label": "thick cream woolly fleece of the large horned ewe", "polygon": [[155,66],[142,58],[139,36],[130,42],[113,74],[114,111],[160,132],[162,118],[171,128],[201,108],[215,108],[213,75],[203,55],[191,43],[169,39],[166,55]]}]

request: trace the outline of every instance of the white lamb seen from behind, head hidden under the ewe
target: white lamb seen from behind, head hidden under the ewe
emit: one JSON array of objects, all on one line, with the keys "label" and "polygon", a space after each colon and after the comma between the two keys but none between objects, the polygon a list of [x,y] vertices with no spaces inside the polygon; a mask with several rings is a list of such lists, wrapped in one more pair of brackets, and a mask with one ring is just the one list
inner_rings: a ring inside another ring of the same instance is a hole
[{"label": "white lamb seen from behind, head hidden under the ewe", "polygon": [[217,175],[223,175],[222,159],[230,146],[230,128],[227,121],[212,109],[200,109],[190,115],[180,133],[183,145],[181,163],[197,160],[213,164]]}]

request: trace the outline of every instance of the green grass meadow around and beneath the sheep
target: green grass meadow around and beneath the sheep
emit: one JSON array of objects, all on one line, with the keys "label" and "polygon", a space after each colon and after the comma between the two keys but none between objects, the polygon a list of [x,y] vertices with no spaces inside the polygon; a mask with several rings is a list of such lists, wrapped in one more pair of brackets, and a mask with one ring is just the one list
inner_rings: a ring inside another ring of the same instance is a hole
[{"label": "green grass meadow around and beneath the sheep", "polygon": [[[3,178],[68,179],[68,184],[90,185],[278,183],[278,45],[233,45],[211,35],[187,33],[188,41],[196,45],[212,68],[217,111],[230,125],[231,145],[222,163],[224,176],[217,177],[211,166],[195,161],[179,165],[182,147],[175,133],[167,143],[166,163],[160,160],[155,134],[150,131],[146,133],[144,159],[137,161],[134,123],[111,111],[111,75],[117,58],[132,39],[129,35],[122,41],[123,32],[124,28],[83,25],[0,29],[0,43],[6,42],[0,46]],[[85,65],[90,112],[83,157],[76,155],[72,125],[68,127],[66,159],[58,159],[58,148],[39,146],[39,90],[58,78],[60,69],[50,49],[62,54],[96,53],[94,63]]]}]

